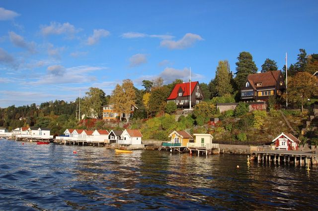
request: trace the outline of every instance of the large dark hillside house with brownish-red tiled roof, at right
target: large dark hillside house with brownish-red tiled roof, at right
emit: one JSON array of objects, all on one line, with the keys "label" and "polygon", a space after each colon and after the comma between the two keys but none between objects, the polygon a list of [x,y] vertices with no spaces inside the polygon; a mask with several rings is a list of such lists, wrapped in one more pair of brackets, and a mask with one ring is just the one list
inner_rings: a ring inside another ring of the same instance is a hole
[{"label": "large dark hillside house with brownish-red tiled roof, at right", "polygon": [[277,98],[286,90],[285,80],[280,70],[249,74],[240,98],[243,101],[267,101],[269,96]]}]

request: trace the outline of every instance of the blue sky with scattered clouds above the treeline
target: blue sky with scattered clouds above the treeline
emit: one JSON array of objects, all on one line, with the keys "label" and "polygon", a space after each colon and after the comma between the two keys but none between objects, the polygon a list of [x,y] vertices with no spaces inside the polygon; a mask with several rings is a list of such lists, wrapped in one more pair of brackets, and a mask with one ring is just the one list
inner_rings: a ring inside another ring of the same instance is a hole
[{"label": "blue sky with scattered clouds above the treeline", "polygon": [[110,95],[123,79],[209,83],[247,51],[281,69],[318,53],[318,1],[1,0],[0,107]]}]

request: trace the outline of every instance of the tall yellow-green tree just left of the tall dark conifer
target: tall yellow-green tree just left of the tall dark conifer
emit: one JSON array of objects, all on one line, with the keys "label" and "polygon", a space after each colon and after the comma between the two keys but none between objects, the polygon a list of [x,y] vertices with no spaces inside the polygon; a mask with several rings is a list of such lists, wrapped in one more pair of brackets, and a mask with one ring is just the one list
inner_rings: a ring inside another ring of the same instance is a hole
[{"label": "tall yellow-green tree just left of the tall dark conifer", "polygon": [[229,61],[219,61],[219,65],[215,73],[215,83],[218,96],[222,97],[233,92]]}]

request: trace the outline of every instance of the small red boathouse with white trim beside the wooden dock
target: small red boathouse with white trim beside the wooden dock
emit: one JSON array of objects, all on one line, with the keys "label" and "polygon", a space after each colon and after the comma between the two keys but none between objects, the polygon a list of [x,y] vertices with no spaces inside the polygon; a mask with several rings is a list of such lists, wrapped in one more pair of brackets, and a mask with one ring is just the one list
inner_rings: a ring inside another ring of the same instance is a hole
[{"label": "small red boathouse with white trim beside the wooden dock", "polygon": [[298,150],[300,143],[299,139],[290,133],[281,133],[272,142],[276,150]]}]

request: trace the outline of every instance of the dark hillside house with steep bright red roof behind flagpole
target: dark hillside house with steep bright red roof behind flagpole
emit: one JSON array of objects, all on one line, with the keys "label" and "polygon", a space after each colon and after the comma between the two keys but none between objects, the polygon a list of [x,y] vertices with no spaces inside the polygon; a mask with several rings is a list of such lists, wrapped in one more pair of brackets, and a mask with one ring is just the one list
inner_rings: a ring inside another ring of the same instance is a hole
[{"label": "dark hillside house with steep bright red roof behind flagpole", "polygon": [[167,98],[167,103],[172,101],[176,103],[177,107],[189,108],[190,96],[191,107],[204,100],[203,92],[198,81],[176,84]]}]

